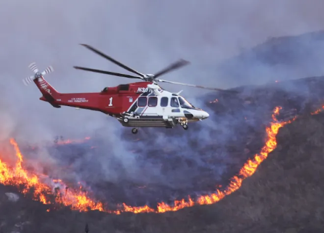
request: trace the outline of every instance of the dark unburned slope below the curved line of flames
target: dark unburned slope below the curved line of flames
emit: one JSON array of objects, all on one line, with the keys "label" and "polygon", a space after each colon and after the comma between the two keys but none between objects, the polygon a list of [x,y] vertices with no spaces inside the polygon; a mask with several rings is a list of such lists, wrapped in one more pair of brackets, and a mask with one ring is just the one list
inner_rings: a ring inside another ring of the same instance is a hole
[{"label": "dark unburned slope below the curved line of flames", "polygon": [[[324,114],[303,116],[279,130],[277,149],[242,187],[215,205],[164,214],[109,215],[68,208],[46,212],[29,199],[9,203],[1,192],[2,230],[21,232],[271,232],[320,233],[324,227]],[[13,217],[15,216],[15,217]],[[19,217],[18,217],[19,216]]]}]

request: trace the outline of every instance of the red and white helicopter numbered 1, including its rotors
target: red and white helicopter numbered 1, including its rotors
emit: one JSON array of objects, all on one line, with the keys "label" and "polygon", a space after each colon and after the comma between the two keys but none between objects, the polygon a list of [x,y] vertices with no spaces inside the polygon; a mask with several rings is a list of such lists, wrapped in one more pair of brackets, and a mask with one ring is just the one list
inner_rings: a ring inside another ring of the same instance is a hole
[{"label": "red and white helicopter numbered 1, including its rotors", "polygon": [[42,93],[42,97],[39,99],[51,104],[55,108],[70,106],[76,107],[77,109],[81,108],[99,111],[116,118],[124,127],[133,127],[133,134],[136,134],[140,127],[173,128],[178,124],[180,124],[183,129],[187,130],[188,123],[201,121],[209,117],[206,111],[193,106],[182,97],[180,95],[182,90],[178,93],[171,93],[160,87],[158,82],[186,85],[215,91],[236,92],[234,90],[203,87],[159,78],[170,71],[189,64],[189,61],[184,59],[180,59],[170,64],[154,75],[142,74],[89,45],[81,45],[125,70],[134,73],[136,76],[80,66],[74,66],[75,69],[117,77],[141,79],[142,81],[120,84],[114,87],[105,87],[101,92],[96,93],[59,93],[44,79],[45,75],[54,71],[53,67],[49,66],[43,72],[39,72],[36,63],[33,62],[28,68],[34,72],[34,75],[23,79],[24,84],[28,85],[34,82]]}]

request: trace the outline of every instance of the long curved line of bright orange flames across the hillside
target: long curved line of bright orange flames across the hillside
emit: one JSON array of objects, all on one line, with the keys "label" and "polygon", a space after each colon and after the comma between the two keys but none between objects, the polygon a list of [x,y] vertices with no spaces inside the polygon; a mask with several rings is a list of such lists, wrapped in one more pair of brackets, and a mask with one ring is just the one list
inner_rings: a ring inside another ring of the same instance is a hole
[{"label": "long curved line of bright orange flames across the hillside", "polygon": [[[88,211],[89,209],[91,209],[115,214],[120,214],[121,212],[162,213],[166,211],[177,211],[179,209],[185,207],[192,207],[194,205],[213,204],[218,202],[225,196],[238,190],[242,185],[242,181],[252,176],[259,164],[267,158],[271,151],[273,151],[276,148],[277,143],[275,137],[278,133],[278,130],[296,119],[294,118],[293,120],[286,122],[277,121],[276,116],[279,114],[280,109],[281,107],[279,106],[273,110],[273,121],[270,123],[270,126],[266,128],[267,140],[261,152],[259,154],[254,155],[253,159],[249,159],[244,164],[239,174],[231,179],[229,185],[223,191],[216,189],[214,194],[201,196],[195,201],[188,197],[188,201],[186,201],[185,199],[182,199],[180,201],[174,201],[173,206],[169,206],[166,203],[162,202],[158,203],[156,209],[153,209],[148,206],[131,207],[123,203],[119,206],[118,210],[108,210],[104,207],[103,203],[93,201],[93,199],[89,197],[89,194],[87,192],[81,190],[81,187],[80,190],[71,190],[61,180],[51,180],[47,176],[40,174],[32,174],[25,170],[23,168],[23,155],[21,154],[18,144],[14,139],[11,139],[10,143],[15,149],[17,162],[15,166],[10,167],[5,162],[0,160],[0,183],[4,185],[16,186],[20,188],[20,191],[23,194],[27,194],[29,190],[33,189],[34,200],[38,200],[43,204],[53,204],[49,198],[49,196],[52,195],[54,196],[54,203],[69,206],[72,209],[77,209],[80,211]],[[40,177],[44,178],[41,179]],[[55,186],[59,187],[59,191],[57,191],[57,188],[54,188]],[[48,209],[47,211],[50,211],[50,209]]]}]

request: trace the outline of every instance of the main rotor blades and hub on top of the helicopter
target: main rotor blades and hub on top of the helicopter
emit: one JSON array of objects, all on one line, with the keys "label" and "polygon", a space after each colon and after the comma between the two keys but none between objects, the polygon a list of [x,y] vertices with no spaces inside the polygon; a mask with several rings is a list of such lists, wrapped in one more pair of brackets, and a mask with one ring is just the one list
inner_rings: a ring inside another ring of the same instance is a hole
[{"label": "main rotor blades and hub on top of the helicopter", "polygon": [[204,87],[204,86],[200,86],[200,85],[193,85],[193,84],[187,84],[187,83],[181,83],[181,82],[173,82],[173,81],[168,81],[168,80],[164,80],[164,79],[159,79],[158,77],[161,77],[162,75],[165,75],[171,71],[177,70],[183,66],[186,66],[189,64],[189,61],[186,61],[184,59],[180,59],[172,64],[170,64],[169,66],[165,67],[164,69],[162,69],[161,71],[155,73],[154,75],[151,74],[142,74],[128,66],[126,66],[125,64],[113,59],[112,57],[108,56],[107,54],[100,52],[99,50],[86,45],[86,44],[81,44],[82,46],[84,46],[85,48],[91,50],[92,52],[97,53],[98,55],[108,59],[109,61],[111,61],[112,63],[118,65],[119,67],[124,68],[125,70],[137,75],[126,75],[126,74],[120,74],[120,73],[115,73],[115,72],[110,72],[110,71],[104,71],[104,70],[97,70],[97,69],[92,69],[92,68],[86,68],[86,67],[81,67],[81,66],[74,66],[75,69],[78,70],[84,70],[84,71],[90,71],[90,72],[95,72],[95,73],[100,73],[100,74],[106,74],[106,75],[112,75],[112,76],[118,76],[118,77],[124,77],[124,78],[137,78],[137,79],[142,79],[144,81],[150,81],[153,82],[155,84],[157,84],[157,82],[166,82],[166,83],[172,83],[172,84],[178,84],[178,85],[184,85],[184,86],[191,86],[191,87],[197,87],[197,88],[202,88],[202,89],[208,89],[208,90],[213,90],[213,91],[226,91],[226,92],[232,92],[232,93],[238,93],[237,91],[234,90],[225,90],[225,89],[220,89],[220,88],[212,88],[212,87]]}]

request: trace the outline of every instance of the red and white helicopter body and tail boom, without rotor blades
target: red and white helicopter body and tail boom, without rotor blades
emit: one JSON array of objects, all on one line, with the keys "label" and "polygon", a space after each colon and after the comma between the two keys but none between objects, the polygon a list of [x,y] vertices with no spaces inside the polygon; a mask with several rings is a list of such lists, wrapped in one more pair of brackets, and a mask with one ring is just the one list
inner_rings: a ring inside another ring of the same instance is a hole
[{"label": "red and white helicopter body and tail boom, without rotor blades", "polygon": [[209,114],[189,104],[182,96],[162,90],[152,82],[105,87],[98,93],[59,93],[43,77],[34,80],[54,107],[70,106],[100,111],[115,117],[125,127],[165,127],[203,120]]}]

